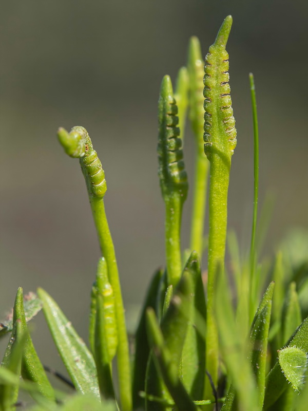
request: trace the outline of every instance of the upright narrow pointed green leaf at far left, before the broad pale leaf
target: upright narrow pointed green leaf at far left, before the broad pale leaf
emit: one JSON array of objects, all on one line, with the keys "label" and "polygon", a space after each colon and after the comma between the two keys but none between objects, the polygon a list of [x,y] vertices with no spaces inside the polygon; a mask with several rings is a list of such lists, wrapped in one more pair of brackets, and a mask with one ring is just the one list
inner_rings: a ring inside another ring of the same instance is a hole
[{"label": "upright narrow pointed green leaf at far left, before the broad pale leaf", "polygon": [[[23,338],[23,335],[26,336],[23,356],[22,356],[22,377],[26,380],[29,380],[37,384],[38,390],[41,394],[53,400],[54,391],[53,388],[46,376],[44,367],[37,356],[37,353],[34,349],[24,311],[24,301],[23,301],[23,289],[20,287],[17,290],[15,304],[14,304],[14,314],[13,314],[13,323],[20,321],[22,333],[20,335],[16,334],[16,339]],[[18,331],[18,328],[17,328]]]}]

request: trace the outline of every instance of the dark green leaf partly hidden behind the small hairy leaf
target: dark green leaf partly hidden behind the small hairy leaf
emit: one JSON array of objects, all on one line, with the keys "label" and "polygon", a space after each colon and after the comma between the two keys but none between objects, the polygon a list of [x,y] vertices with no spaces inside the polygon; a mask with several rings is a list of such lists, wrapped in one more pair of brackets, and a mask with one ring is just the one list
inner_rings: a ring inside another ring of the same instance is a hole
[{"label": "dark green leaf partly hidden behind the small hairy leaf", "polygon": [[[298,327],[294,337],[288,342],[288,347],[297,347],[308,352],[308,317]],[[265,383],[264,411],[273,405],[287,388],[287,380],[284,377],[279,362],[269,371]]]}]

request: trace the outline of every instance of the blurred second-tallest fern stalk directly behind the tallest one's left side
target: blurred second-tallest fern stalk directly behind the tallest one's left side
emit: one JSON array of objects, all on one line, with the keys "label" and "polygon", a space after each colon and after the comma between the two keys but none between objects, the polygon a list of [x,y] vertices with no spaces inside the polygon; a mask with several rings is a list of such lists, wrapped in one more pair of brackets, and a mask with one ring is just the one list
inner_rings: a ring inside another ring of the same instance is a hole
[{"label": "blurred second-tallest fern stalk directly behind the tallest one's left side", "polygon": [[204,62],[202,60],[200,43],[197,37],[192,37],[188,50],[188,74],[189,74],[189,118],[192,131],[195,136],[195,181],[194,199],[192,202],[190,250],[197,251],[202,259],[204,215],[206,206],[206,191],[208,178],[208,160],[203,150],[203,76]]}]

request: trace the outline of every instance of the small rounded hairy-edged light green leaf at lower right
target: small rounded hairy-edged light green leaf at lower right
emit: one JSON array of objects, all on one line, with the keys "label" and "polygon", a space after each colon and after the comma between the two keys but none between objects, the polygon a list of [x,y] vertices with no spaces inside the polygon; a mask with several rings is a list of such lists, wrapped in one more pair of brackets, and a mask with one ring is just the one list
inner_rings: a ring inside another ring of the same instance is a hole
[{"label": "small rounded hairy-edged light green leaf at lower right", "polygon": [[278,351],[278,360],[285,378],[300,391],[305,381],[307,353],[300,348],[286,347]]}]

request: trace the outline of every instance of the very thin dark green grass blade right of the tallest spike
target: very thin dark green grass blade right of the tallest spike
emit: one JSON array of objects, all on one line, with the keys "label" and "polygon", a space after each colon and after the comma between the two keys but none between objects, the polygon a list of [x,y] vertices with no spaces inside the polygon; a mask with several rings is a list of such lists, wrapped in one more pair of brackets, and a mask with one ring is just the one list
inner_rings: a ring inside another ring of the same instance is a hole
[{"label": "very thin dark green grass blade right of the tallest spike", "polygon": [[253,110],[254,123],[254,214],[253,227],[250,250],[250,298],[249,298],[249,319],[252,320],[256,302],[256,227],[257,227],[257,213],[258,213],[258,190],[259,190],[259,129],[256,103],[256,90],[253,73],[249,74],[249,82],[251,87],[251,100]]}]

